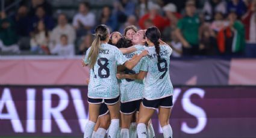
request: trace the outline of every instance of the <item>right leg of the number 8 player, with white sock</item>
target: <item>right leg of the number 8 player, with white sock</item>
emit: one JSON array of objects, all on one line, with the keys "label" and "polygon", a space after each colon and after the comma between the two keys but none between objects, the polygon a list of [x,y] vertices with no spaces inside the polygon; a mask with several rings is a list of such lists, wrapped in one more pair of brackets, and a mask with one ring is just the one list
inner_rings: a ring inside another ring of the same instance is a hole
[{"label": "right leg of the number 8 player, with white sock", "polygon": [[111,124],[108,128],[108,137],[115,138],[119,129],[120,104],[119,97],[113,99],[105,99],[108,110],[110,111]]}]

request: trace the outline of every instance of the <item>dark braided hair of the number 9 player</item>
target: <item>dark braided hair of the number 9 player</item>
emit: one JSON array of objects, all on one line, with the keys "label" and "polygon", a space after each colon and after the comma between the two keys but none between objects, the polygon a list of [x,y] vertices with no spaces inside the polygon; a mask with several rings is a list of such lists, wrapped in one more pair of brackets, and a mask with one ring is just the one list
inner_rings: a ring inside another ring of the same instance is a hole
[{"label": "dark braided hair of the number 9 player", "polygon": [[161,37],[161,33],[158,28],[151,27],[146,30],[145,36],[155,45],[155,52],[157,52],[157,59],[160,60],[160,46],[159,39]]}]

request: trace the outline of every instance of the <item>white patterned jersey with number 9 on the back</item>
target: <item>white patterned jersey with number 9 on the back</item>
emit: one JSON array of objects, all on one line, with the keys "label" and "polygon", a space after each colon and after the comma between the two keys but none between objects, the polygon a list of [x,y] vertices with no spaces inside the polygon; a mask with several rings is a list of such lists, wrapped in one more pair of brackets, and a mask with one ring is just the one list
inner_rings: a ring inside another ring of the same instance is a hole
[{"label": "white patterned jersey with number 9 on the back", "polygon": [[149,52],[147,56],[147,76],[143,97],[147,100],[156,100],[168,97],[173,94],[172,82],[170,82],[170,55],[172,49],[170,46],[160,46],[160,60],[157,59],[155,47],[146,47]]}]

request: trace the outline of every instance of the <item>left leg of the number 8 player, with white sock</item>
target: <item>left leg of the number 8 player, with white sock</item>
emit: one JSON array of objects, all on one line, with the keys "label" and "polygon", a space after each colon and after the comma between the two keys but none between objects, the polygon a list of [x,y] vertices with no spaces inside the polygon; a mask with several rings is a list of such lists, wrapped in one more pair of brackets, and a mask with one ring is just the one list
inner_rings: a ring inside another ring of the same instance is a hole
[{"label": "left leg of the number 8 player, with white sock", "polygon": [[89,103],[89,121],[86,123],[84,130],[84,138],[92,137],[93,128],[99,116],[99,108],[101,107],[101,99],[88,98]]}]

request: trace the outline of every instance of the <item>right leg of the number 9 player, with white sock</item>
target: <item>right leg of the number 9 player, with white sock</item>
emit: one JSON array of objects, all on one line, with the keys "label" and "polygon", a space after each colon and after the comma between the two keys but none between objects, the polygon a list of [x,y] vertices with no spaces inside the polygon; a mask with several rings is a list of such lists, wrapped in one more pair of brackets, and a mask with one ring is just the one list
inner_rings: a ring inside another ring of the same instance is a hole
[{"label": "right leg of the number 9 player, with white sock", "polygon": [[158,119],[163,129],[164,138],[172,138],[172,127],[169,124],[170,110],[172,108],[172,96],[161,99],[158,110]]}]

